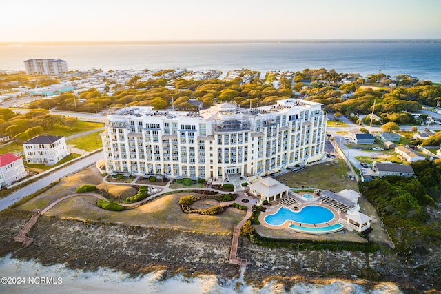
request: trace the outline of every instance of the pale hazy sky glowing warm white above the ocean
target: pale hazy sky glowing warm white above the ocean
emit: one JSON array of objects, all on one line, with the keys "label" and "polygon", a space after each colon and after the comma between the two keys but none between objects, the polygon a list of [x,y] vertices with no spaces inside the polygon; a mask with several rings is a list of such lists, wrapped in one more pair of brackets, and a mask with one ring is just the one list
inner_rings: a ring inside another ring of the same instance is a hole
[{"label": "pale hazy sky glowing warm white above the ocean", "polygon": [[6,0],[0,42],[441,39],[440,0]]}]

